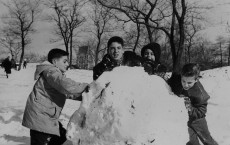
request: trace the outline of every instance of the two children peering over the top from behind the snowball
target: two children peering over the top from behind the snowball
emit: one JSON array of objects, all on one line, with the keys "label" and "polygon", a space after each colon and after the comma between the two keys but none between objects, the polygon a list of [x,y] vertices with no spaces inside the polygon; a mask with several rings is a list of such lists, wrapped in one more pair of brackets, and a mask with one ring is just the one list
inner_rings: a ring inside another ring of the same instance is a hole
[{"label": "two children peering over the top from behind the snowball", "polygon": [[104,71],[111,71],[114,67],[143,66],[149,75],[159,75],[165,78],[166,67],[160,63],[161,48],[158,43],[149,43],[141,50],[141,56],[132,51],[124,51],[124,41],[114,36],[107,44],[107,54],[102,61],[93,68],[93,79],[96,80]]}]

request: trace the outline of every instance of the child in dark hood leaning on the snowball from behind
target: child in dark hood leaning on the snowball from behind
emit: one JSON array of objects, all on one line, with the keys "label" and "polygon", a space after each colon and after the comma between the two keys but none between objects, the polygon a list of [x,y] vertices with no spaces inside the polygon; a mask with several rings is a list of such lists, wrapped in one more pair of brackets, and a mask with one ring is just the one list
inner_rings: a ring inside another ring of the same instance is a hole
[{"label": "child in dark hood leaning on the snowball from behind", "polygon": [[150,74],[156,74],[165,79],[167,68],[160,64],[161,48],[158,43],[149,43],[141,49],[142,65],[145,71]]}]

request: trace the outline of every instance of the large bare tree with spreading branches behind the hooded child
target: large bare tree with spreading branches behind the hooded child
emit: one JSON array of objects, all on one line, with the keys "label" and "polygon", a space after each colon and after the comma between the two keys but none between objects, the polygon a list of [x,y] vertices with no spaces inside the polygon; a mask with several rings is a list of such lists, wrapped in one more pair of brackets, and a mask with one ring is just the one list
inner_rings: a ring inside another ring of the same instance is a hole
[{"label": "large bare tree with spreading branches behind the hooded child", "polygon": [[[134,23],[146,27],[149,41],[153,30],[161,30],[168,37],[173,59],[173,72],[178,73],[185,43],[185,19],[196,8],[186,0],[98,0],[105,7],[120,11]],[[188,11],[189,10],[189,11]],[[188,13],[189,12],[189,13]]]}]

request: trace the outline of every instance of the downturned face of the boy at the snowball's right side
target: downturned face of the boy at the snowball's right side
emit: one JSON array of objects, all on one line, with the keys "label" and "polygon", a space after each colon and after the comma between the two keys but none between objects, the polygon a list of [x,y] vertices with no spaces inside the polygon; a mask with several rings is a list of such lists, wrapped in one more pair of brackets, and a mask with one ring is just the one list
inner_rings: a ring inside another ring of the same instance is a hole
[{"label": "downturned face of the boy at the snowball's right side", "polygon": [[184,90],[189,90],[190,88],[194,86],[196,82],[197,82],[197,79],[195,78],[195,76],[192,76],[192,77],[182,76],[181,77],[181,84]]}]

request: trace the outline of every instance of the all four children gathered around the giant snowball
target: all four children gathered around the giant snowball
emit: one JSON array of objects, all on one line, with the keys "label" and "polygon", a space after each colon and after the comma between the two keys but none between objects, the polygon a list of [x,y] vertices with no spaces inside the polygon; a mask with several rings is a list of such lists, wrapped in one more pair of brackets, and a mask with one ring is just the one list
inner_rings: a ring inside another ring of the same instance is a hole
[{"label": "all four children gathered around the giant snowball", "polygon": [[[164,78],[166,67],[160,63],[161,49],[158,43],[149,43],[141,50],[141,56],[132,51],[123,50],[124,41],[114,36],[107,43],[107,54],[93,68],[93,80],[105,71],[111,71],[120,65],[142,66],[149,75]],[[58,121],[66,99],[87,100],[81,93],[87,83],[78,83],[66,78],[68,53],[61,49],[52,49],[48,62],[38,65],[35,72],[36,83],[28,97],[22,125],[30,129],[31,145],[61,145],[66,141],[66,130]],[[187,145],[217,145],[211,137],[205,114],[210,98],[199,82],[200,68],[197,64],[186,64],[181,74],[174,74],[167,80],[172,91],[185,100],[188,110],[189,142]]]}]

